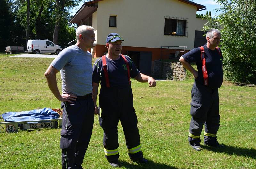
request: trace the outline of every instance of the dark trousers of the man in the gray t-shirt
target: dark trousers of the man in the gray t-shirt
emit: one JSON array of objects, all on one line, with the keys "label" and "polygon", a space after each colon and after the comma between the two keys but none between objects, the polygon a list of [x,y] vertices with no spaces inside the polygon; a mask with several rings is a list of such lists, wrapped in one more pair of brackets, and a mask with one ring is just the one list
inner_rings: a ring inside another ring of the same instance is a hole
[{"label": "dark trousers of the man in the gray t-shirt", "polygon": [[74,104],[62,102],[63,119],[60,132],[62,168],[81,169],[94,122],[94,103],[91,94],[78,96]]}]

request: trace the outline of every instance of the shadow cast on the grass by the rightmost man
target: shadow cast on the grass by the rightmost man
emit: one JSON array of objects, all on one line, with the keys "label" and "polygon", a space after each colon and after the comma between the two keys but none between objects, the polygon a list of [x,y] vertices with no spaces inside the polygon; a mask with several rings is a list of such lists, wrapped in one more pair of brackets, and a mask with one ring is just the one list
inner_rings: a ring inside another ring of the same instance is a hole
[{"label": "shadow cast on the grass by the rightmost man", "polygon": [[253,159],[256,158],[256,150],[253,148],[246,149],[246,148],[234,147],[234,146],[228,146],[228,145],[224,145],[224,146],[225,146],[224,148],[218,149],[218,148],[202,145],[202,148],[209,151],[213,151],[213,152],[227,153],[229,155],[244,156],[244,157],[249,157]]}]

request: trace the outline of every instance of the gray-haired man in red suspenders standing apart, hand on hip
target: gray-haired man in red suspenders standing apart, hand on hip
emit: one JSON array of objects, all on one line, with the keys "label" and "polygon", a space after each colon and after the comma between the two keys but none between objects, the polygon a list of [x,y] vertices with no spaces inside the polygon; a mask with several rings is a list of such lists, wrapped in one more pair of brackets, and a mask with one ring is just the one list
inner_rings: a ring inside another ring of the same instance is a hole
[{"label": "gray-haired man in red suspenders standing apart, hand on hip", "polygon": [[[210,29],[206,34],[207,44],[195,48],[180,57],[180,62],[195,77],[192,87],[189,144],[197,151],[201,151],[200,135],[205,127],[204,144],[222,147],[217,141],[217,131],[220,126],[218,88],[222,85],[222,54],[217,46],[220,43],[220,31]],[[196,62],[196,71],[191,65]]]}]

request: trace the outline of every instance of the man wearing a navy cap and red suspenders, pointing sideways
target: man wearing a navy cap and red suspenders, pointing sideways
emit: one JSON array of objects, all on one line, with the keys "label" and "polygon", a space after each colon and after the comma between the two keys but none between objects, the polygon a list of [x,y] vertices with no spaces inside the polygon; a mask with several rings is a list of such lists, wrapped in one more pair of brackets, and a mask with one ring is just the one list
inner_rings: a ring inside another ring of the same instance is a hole
[{"label": "man wearing a navy cap and red suspenders, pointing sideways", "polygon": [[[108,53],[96,60],[92,75],[95,113],[99,114],[100,126],[104,131],[105,157],[114,167],[119,167],[117,134],[119,120],[123,127],[130,159],[139,163],[148,162],[143,158],[141,150],[130,77],[139,82],[148,82],[149,87],[156,86],[156,81],[152,77],[140,73],[129,56],[120,54],[122,41],[124,40],[117,33],[107,36]],[[99,83],[101,84],[100,111],[96,105]]]}]

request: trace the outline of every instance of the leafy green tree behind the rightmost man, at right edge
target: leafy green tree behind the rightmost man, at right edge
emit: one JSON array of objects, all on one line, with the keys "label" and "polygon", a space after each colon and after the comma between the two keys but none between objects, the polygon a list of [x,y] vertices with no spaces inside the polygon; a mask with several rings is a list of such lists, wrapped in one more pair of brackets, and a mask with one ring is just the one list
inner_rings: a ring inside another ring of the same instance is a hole
[{"label": "leafy green tree behind the rightmost man, at right edge", "polygon": [[216,0],[220,15],[211,18],[204,30],[221,31],[224,76],[233,82],[256,84],[256,3],[255,0]]}]

